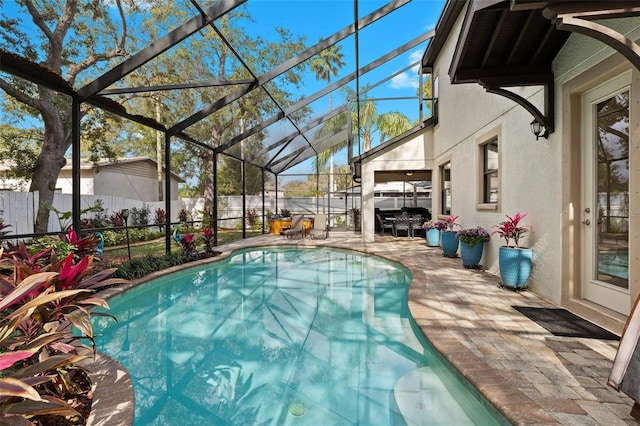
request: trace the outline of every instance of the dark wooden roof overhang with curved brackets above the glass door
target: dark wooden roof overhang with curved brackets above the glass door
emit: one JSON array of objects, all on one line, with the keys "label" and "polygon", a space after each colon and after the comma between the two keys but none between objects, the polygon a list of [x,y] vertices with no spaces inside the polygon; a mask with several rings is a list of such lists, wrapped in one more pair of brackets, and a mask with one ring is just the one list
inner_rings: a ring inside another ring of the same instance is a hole
[{"label": "dark wooden roof overhang with curved brackets above the glass door", "polygon": [[[457,19],[457,9],[449,3],[449,18]],[[571,32],[604,42],[640,69],[640,46],[595,22],[638,15],[640,1],[470,0],[449,69],[451,82],[478,83],[490,93],[512,99],[552,133],[552,65]],[[450,32],[452,25],[443,23],[442,27]],[[434,53],[427,51],[423,69],[434,61]],[[508,89],[519,86],[544,87],[542,111]]]}]

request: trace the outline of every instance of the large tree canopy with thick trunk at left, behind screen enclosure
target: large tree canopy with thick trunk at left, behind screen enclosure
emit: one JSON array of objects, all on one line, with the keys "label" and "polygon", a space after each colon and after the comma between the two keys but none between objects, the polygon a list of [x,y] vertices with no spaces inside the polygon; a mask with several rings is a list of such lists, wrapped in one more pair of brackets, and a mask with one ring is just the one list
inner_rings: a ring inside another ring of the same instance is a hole
[{"label": "large tree canopy with thick trunk at left, behind screen enclosure", "polygon": [[[115,6],[115,7],[112,7]],[[145,5],[146,8],[147,5]],[[57,2],[47,0],[17,2],[18,14],[3,10],[0,15],[0,47],[42,64],[58,74],[71,87],[79,88],[110,69],[123,58],[142,49],[146,43],[156,40],[166,28],[180,25],[191,16],[171,1],[154,1],[140,14],[140,5],[92,1],[79,4],[76,1]],[[141,22],[137,17],[145,16]],[[21,18],[22,17],[22,18]],[[27,33],[24,24],[29,17],[34,26]],[[224,15],[219,26],[226,37],[234,40],[234,46],[242,51],[232,52],[214,31],[201,31],[188,42],[177,44],[149,63],[137,68],[118,82],[119,87],[162,86],[185,81],[232,81],[251,79],[250,69],[271,69],[292,52],[304,47],[304,37],[295,37],[279,29],[278,40],[265,40],[242,31],[242,20],[251,19],[245,10],[238,9]],[[133,21],[136,31],[130,31]],[[245,63],[235,54],[245,55]],[[256,55],[255,52],[258,52]],[[232,55],[234,53],[234,55]],[[299,73],[303,68],[290,70],[284,75],[289,87],[300,84]],[[287,85],[270,84],[269,93],[256,90],[240,100],[211,114],[205,120],[189,126],[185,132],[201,146],[172,142],[172,169],[195,187],[209,201],[213,200],[213,155],[211,149],[250,126],[260,123],[265,114],[275,113],[279,105],[291,105],[295,99]],[[156,121],[170,126],[176,118],[186,118],[203,105],[211,104],[226,96],[233,86],[211,85],[198,90],[139,91],[113,96],[128,111],[155,117]],[[6,122],[1,134],[8,141],[0,149],[0,159],[14,161],[15,176],[30,179],[30,191],[40,193],[40,206],[36,219],[36,232],[47,229],[48,210],[55,183],[66,164],[71,147],[71,99],[42,86],[37,86],[11,75],[0,76],[0,89],[4,92],[2,111]],[[299,114],[304,114],[304,110]],[[83,155],[94,159],[118,156],[146,155],[164,159],[164,139],[161,134],[133,122],[126,122],[105,111],[83,104],[81,114]],[[31,120],[21,117],[29,116]],[[21,125],[16,125],[22,121]],[[252,141],[245,143],[243,155],[253,156],[262,148],[266,133],[259,132]],[[207,149],[209,146],[211,149]],[[18,164],[19,163],[19,164]],[[222,176],[233,172],[232,162],[222,161]],[[223,179],[225,179],[223,177]],[[159,186],[161,190],[161,186]]]}]

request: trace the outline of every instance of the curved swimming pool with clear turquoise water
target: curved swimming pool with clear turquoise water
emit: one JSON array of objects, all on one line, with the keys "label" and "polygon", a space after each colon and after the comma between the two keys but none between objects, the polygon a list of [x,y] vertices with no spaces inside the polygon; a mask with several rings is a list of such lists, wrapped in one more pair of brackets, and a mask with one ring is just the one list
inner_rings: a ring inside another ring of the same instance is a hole
[{"label": "curved swimming pool with clear turquoise water", "polygon": [[362,253],[259,248],[109,300],[98,350],[135,424],[506,424],[410,318],[407,269]]}]

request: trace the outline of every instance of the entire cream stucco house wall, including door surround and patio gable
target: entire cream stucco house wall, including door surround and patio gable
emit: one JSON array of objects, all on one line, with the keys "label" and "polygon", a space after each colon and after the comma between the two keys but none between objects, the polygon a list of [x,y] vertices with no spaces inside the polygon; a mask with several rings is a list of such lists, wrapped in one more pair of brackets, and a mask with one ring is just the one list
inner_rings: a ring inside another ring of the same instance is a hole
[{"label": "entire cream stucco house wall, including door surround and patio gable", "polygon": [[[426,127],[424,141],[433,143],[426,148],[423,167],[433,170],[433,213],[440,211],[439,166],[451,162],[452,214],[459,215],[463,227],[492,226],[503,221],[505,215],[526,213],[525,224],[531,226],[525,244],[534,249],[534,268],[528,282],[529,289],[574,312],[596,319],[609,328],[621,331],[624,315],[581,299],[580,244],[576,214],[580,193],[580,117],[575,104],[580,93],[607,78],[632,70],[631,122],[633,148],[631,170],[630,211],[640,211],[640,145],[633,135],[640,134],[640,72],[605,44],[577,33],[570,35],[567,44],[553,63],[555,76],[555,131],[547,139],[536,140],[531,133],[533,117],[522,106],[503,96],[488,93],[479,84],[451,84],[449,70],[464,21],[459,14],[452,31],[443,44],[433,66],[432,78],[438,87],[438,123]],[[640,39],[640,20],[613,20],[607,25],[620,30],[633,40]],[[543,109],[544,89],[522,87],[511,89],[532,104]],[[428,136],[426,136],[428,135]],[[497,137],[499,145],[500,196],[497,205],[481,203],[482,157],[479,145]],[[383,153],[363,159],[363,194],[369,193],[376,170],[393,167],[395,160],[401,168],[415,168],[415,156],[403,155],[410,146],[418,146],[419,136],[399,141]],[[415,152],[414,152],[415,154]],[[431,155],[432,154],[432,155]],[[413,163],[412,165],[409,165]],[[373,208],[363,199],[363,211]],[[640,215],[631,214],[630,226],[640,229]],[[577,225],[576,225],[577,224]],[[364,238],[371,240],[373,225],[365,224]],[[498,273],[498,250],[504,242],[498,236],[485,245],[482,264],[489,272]],[[640,247],[640,237],[630,240],[630,303],[640,293],[640,263],[633,262]]]}]

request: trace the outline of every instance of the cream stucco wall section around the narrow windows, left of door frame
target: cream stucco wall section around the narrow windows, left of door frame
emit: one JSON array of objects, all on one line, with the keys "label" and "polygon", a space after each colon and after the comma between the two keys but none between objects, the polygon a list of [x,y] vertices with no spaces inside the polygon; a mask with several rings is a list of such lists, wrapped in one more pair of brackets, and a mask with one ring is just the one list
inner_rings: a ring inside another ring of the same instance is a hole
[{"label": "cream stucco wall section around the narrow windows, left of door frame", "polygon": [[[526,244],[534,249],[536,265],[529,287],[560,302],[561,147],[557,133],[536,141],[529,126],[531,115],[524,108],[487,93],[478,84],[451,84],[448,71],[463,18],[461,13],[434,66],[440,107],[434,128],[436,169],[451,161],[451,212],[460,216],[458,221],[464,228],[482,226],[491,230],[505,215],[527,213],[526,224],[531,225],[532,232]],[[542,104],[542,88],[514,91],[536,105]],[[498,138],[500,155],[499,203],[483,205],[479,145],[493,137]],[[439,194],[439,177],[433,184],[434,194]],[[485,244],[483,266],[493,273],[498,272],[501,245],[497,236]]]}]

